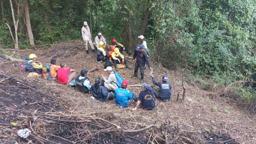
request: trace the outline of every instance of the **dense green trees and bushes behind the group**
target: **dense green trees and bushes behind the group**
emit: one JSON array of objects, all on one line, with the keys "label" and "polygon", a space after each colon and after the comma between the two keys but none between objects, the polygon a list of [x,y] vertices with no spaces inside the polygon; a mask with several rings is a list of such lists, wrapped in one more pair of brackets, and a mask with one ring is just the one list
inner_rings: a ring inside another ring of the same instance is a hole
[{"label": "dense green trees and bushes behind the group", "polygon": [[[5,24],[14,29],[10,3],[1,1],[1,45],[14,47]],[[20,48],[29,48],[23,1],[13,6]],[[29,12],[37,45],[82,40],[83,21],[93,37],[102,32],[108,43],[116,38],[130,50],[143,34],[151,61],[256,99],[256,0],[29,0]]]}]

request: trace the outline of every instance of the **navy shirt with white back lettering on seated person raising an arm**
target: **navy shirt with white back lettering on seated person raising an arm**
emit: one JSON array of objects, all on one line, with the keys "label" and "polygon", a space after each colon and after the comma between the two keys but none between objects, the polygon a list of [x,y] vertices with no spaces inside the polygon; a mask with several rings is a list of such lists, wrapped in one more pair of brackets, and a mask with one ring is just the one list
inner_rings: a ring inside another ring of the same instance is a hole
[{"label": "navy shirt with white back lettering on seated person raising an arm", "polygon": [[172,86],[170,83],[168,82],[156,82],[155,78],[152,77],[152,82],[154,83],[154,85],[159,86],[160,91],[159,91],[159,99],[160,100],[170,100],[171,99],[171,95],[172,95]]}]

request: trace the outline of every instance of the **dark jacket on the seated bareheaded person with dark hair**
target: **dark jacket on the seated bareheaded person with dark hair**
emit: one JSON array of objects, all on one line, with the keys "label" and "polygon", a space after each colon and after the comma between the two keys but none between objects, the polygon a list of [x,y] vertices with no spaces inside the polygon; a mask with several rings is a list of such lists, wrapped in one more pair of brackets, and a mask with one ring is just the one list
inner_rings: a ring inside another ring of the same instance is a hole
[{"label": "dark jacket on the seated bareheaded person with dark hair", "polygon": [[100,100],[101,102],[106,102],[108,91],[104,86],[99,85],[99,87],[96,88],[94,84],[91,86],[90,91],[93,91],[93,97]]}]

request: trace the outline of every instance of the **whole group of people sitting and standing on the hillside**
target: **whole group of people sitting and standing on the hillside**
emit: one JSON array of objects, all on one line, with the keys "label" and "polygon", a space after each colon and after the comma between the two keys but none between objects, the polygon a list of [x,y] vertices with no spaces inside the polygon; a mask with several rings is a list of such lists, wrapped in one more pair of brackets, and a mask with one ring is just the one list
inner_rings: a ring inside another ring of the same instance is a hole
[{"label": "whole group of people sitting and standing on the hillside", "polygon": [[[89,43],[93,52],[96,53],[95,48],[93,47],[93,43],[91,41],[90,29],[88,27],[87,22],[84,22],[84,26],[81,29],[82,37],[85,43],[85,49],[87,54]],[[145,77],[145,68],[146,64],[149,69],[152,71],[152,67],[149,61],[148,54],[146,52],[147,45],[143,35],[138,36],[142,45],[138,45],[136,49],[134,49],[133,55],[133,63],[135,63],[134,74],[132,77],[138,77],[138,70],[140,68],[141,79],[140,82],[144,81]],[[105,50],[106,41],[101,33],[98,33],[98,36],[95,37],[94,44],[97,48],[97,61],[103,62],[107,59],[110,59],[114,62],[116,71],[118,70],[117,64],[123,63],[126,65],[126,68],[130,69],[127,65],[124,56],[121,54],[123,50],[131,55],[131,53],[125,49],[125,47],[118,43],[116,39],[112,40],[111,44],[111,52],[107,52]],[[111,56],[109,56],[111,55]],[[29,55],[29,60],[26,62],[26,71],[27,72],[37,72],[43,73],[44,67],[40,62],[36,62],[37,56],[35,54]],[[136,60],[137,59],[137,60]],[[59,83],[69,84],[71,82],[75,82],[79,91],[87,94],[92,92],[92,99],[98,99],[101,102],[106,102],[107,100],[116,100],[117,106],[122,106],[126,108],[130,105],[131,100],[137,103],[136,107],[133,108],[135,111],[141,105],[144,109],[154,109],[155,108],[155,97],[162,100],[163,102],[167,102],[171,99],[172,87],[170,83],[168,83],[168,77],[163,76],[162,82],[156,82],[154,76],[150,74],[152,77],[152,82],[154,85],[157,85],[160,89],[157,91],[155,88],[152,88],[150,85],[143,83],[143,91],[140,92],[139,97],[137,98],[133,91],[128,90],[128,81],[123,80],[120,85],[119,77],[120,74],[114,73],[113,68],[107,67],[104,71],[107,72],[108,77],[104,74],[101,77],[97,77],[95,79],[95,83],[91,85],[90,80],[87,77],[89,73],[88,70],[81,70],[80,75],[76,77],[76,71],[74,69],[67,68],[64,62],[61,62],[60,65],[56,64],[56,59],[51,59],[49,65],[49,74],[48,76],[52,79],[57,79]]]}]

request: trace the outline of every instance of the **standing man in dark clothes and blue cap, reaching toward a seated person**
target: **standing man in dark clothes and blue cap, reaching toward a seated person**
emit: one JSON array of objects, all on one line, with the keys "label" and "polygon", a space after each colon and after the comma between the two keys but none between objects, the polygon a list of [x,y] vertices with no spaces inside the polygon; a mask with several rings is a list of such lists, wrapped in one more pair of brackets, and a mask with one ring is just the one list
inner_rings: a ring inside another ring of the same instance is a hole
[{"label": "standing man in dark clothes and blue cap, reaching toward a seated person", "polygon": [[[137,60],[135,60],[136,58]],[[137,48],[134,50],[133,63],[135,63],[135,68],[134,68],[134,75],[132,76],[132,78],[138,77],[138,70],[140,68],[140,76],[141,76],[140,82],[144,82],[146,63],[148,64],[148,67],[151,71],[153,69],[151,68],[151,64],[148,58],[148,53],[146,52],[146,50],[143,49],[142,45],[138,45]]]}]

